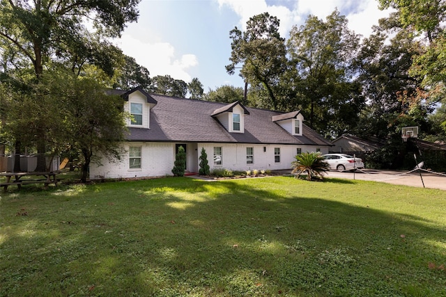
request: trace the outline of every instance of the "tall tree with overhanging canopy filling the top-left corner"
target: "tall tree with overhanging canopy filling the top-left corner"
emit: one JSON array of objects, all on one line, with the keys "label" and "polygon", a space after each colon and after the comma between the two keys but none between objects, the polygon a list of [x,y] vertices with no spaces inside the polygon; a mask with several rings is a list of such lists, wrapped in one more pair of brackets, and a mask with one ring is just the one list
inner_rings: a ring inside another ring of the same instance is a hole
[{"label": "tall tree with overhanging canopy filling the top-left corner", "polygon": [[[85,61],[112,74],[116,47],[101,37],[117,37],[127,22],[137,20],[139,0],[2,0],[0,1],[0,40],[3,52],[15,54],[22,67],[31,65],[36,79],[52,63],[68,63],[77,74]],[[84,19],[93,19],[91,35]],[[104,50],[103,50],[104,49]],[[24,63],[24,62],[28,63]],[[15,64],[18,65],[18,64]],[[38,139],[38,170],[45,168],[45,129]]]}]

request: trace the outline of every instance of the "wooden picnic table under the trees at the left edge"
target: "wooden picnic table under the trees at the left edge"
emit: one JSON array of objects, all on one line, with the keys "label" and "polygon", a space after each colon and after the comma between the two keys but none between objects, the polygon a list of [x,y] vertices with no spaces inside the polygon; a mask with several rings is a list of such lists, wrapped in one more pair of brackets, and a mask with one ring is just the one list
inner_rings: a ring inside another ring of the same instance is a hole
[{"label": "wooden picnic table under the trees at the left edge", "polygon": [[[45,184],[45,188],[49,184],[55,184],[57,186],[58,179],[56,175],[59,175],[60,171],[54,172],[1,172],[0,177],[6,177],[6,182],[0,182],[0,187],[3,186],[3,192],[8,191],[8,186],[17,185],[18,188],[22,188],[23,184]],[[22,177],[45,177],[45,178],[32,178],[22,179]]]}]

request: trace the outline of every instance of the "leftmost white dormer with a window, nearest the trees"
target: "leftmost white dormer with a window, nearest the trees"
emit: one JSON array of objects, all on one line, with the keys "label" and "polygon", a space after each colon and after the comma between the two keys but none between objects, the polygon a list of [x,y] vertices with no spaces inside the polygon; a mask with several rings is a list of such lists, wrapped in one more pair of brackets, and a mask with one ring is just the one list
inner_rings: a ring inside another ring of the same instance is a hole
[{"label": "leftmost white dormer with a window, nearest the trees", "polygon": [[132,115],[128,127],[150,128],[150,111],[157,104],[156,100],[141,87],[125,92],[121,97],[125,100],[124,110]]}]

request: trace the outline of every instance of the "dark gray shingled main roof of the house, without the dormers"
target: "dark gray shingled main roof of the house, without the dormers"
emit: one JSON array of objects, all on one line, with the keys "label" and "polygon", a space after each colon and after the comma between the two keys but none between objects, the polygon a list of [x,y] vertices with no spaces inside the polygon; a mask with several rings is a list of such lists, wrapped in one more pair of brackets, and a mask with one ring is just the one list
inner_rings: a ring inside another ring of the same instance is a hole
[{"label": "dark gray shingled main roof of the house, without the dormers", "polygon": [[[295,145],[330,145],[304,125],[303,136],[293,136],[272,122],[283,113],[245,107],[245,133],[229,133],[211,115],[227,107],[219,102],[151,94],[157,105],[151,110],[150,129],[130,128],[129,141],[167,141],[204,143],[262,143]],[[240,104],[241,105],[241,104]]]}]

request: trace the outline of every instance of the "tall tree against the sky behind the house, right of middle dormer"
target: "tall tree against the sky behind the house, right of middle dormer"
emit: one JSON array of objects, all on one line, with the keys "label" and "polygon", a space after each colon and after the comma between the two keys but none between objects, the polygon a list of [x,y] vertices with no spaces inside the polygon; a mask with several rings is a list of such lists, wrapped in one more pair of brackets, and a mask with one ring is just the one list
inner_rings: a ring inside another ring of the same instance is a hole
[{"label": "tall tree against the sky behind the house, right of middle dormer", "polygon": [[286,70],[284,38],[279,34],[279,19],[268,13],[249,18],[245,32],[235,27],[230,32],[231,64],[226,72],[234,74],[241,64],[240,76],[251,86],[266,90],[266,108],[277,109],[280,105],[279,81]]}]

